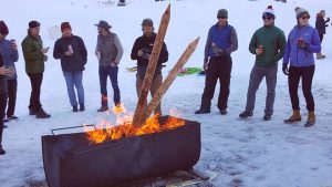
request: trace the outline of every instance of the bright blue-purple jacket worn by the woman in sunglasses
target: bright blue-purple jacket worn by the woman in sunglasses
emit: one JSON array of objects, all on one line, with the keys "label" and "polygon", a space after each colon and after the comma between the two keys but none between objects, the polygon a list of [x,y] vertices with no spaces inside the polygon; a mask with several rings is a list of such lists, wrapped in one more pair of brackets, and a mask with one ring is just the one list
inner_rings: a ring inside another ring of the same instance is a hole
[{"label": "bright blue-purple jacket worn by the woman in sunglasses", "polygon": [[[308,48],[299,48],[299,39],[302,38]],[[295,25],[288,35],[283,54],[283,63],[301,67],[314,65],[313,53],[321,51],[321,41],[318,30],[311,25]]]}]

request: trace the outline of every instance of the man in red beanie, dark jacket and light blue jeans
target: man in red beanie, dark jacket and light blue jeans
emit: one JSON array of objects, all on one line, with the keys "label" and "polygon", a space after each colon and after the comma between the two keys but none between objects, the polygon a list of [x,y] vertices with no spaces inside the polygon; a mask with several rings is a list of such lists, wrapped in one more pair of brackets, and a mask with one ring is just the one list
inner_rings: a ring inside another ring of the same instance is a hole
[{"label": "man in red beanie, dark jacket and light blue jeans", "polygon": [[[72,28],[69,22],[61,23],[62,38],[54,44],[53,56],[61,59],[61,67],[66,83],[68,95],[73,106],[73,112],[84,111],[84,89],[82,84],[84,65],[87,61],[87,52],[83,40],[72,34]],[[76,101],[75,90],[77,91],[79,103]]]}]

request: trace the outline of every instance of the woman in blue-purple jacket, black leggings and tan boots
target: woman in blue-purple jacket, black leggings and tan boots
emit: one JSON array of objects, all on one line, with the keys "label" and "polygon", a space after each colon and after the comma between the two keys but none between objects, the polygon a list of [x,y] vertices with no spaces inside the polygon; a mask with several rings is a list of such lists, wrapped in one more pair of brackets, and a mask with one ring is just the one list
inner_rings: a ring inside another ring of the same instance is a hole
[{"label": "woman in blue-purple jacket, black leggings and tan boots", "polygon": [[[283,54],[282,72],[288,75],[289,94],[293,114],[284,123],[301,121],[298,87],[300,80],[307,102],[308,120],[304,127],[315,123],[314,100],[311,93],[314,74],[313,53],[321,51],[319,32],[309,24],[310,14],[303,8],[295,9],[298,24],[290,31]],[[288,66],[288,64],[290,64]]]}]

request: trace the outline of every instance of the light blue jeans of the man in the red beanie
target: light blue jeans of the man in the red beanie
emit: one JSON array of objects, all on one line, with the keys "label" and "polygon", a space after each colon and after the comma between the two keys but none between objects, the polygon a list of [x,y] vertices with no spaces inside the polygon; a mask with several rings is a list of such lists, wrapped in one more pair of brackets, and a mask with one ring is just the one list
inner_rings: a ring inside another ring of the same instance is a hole
[{"label": "light blue jeans of the man in the red beanie", "polygon": [[68,95],[72,106],[77,106],[76,94],[74,86],[77,91],[79,103],[84,104],[84,89],[82,84],[83,71],[75,72],[63,72],[64,80],[66,83]]}]

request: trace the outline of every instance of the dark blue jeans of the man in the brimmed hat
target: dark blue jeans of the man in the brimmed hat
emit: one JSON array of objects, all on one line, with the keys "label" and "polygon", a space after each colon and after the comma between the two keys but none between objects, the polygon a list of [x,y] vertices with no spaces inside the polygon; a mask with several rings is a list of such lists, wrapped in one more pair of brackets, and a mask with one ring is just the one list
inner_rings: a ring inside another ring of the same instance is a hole
[{"label": "dark blue jeans of the man in the brimmed hat", "polygon": [[110,76],[111,79],[111,84],[113,87],[113,101],[114,104],[117,105],[120,104],[120,89],[117,85],[117,72],[118,72],[118,67],[117,66],[102,66],[100,65],[100,84],[101,84],[101,94],[102,94],[102,106],[108,106],[108,97],[107,97],[107,77]]}]

